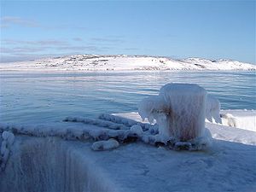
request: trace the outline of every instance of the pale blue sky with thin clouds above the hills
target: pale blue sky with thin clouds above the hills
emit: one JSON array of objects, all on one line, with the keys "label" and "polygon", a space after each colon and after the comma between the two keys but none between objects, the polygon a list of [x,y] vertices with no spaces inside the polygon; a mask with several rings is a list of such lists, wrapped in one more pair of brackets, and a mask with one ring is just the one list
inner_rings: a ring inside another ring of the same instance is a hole
[{"label": "pale blue sky with thin clouds above the hills", "polygon": [[2,1],[0,61],[161,55],[256,63],[255,1]]}]

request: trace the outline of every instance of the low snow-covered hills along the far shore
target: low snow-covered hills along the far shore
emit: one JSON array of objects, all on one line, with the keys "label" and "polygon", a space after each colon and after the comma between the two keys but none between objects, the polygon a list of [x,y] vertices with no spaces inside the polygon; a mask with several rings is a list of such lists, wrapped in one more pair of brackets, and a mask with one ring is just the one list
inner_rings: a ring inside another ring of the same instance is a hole
[{"label": "low snow-covered hills along the far shore", "polygon": [[256,70],[240,61],[200,58],[175,60],[141,55],[71,55],[0,63],[0,71]]}]

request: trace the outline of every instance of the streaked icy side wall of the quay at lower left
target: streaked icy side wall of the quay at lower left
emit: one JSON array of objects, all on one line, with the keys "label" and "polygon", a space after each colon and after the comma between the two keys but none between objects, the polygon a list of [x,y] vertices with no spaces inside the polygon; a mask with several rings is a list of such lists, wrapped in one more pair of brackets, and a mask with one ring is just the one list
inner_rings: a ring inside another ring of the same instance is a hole
[{"label": "streaked icy side wall of the quay at lower left", "polygon": [[8,191],[123,191],[88,154],[88,143],[56,137],[19,136],[4,172],[0,190]]}]

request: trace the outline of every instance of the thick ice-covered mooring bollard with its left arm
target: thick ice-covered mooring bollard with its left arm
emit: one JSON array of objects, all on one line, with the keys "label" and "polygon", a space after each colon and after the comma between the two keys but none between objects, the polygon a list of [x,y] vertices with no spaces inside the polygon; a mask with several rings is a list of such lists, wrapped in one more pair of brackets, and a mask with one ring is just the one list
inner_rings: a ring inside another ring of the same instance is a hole
[{"label": "thick ice-covered mooring bollard with its left arm", "polygon": [[141,117],[152,117],[160,135],[186,142],[203,137],[207,91],[197,84],[166,84],[159,96],[149,96],[138,106]]}]

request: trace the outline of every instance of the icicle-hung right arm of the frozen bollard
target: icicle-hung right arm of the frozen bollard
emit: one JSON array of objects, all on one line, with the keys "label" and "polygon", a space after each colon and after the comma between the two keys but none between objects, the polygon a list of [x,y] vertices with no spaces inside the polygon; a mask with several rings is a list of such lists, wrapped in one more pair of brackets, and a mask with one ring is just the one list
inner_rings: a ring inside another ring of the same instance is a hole
[{"label": "icicle-hung right arm of the frozen bollard", "polygon": [[215,123],[222,123],[220,118],[220,102],[218,102],[217,98],[209,95],[207,96],[206,118],[210,122],[213,119]]}]

